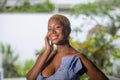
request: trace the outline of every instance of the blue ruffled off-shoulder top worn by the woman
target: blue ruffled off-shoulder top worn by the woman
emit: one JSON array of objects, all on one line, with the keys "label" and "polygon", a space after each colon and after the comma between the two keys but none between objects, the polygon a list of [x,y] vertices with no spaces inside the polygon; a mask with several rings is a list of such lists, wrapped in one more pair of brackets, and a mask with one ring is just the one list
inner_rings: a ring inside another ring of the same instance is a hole
[{"label": "blue ruffled off-shoulder top worn by the woman", "polygon": [[62,62],[58,70],[50,77],[43,77],[41,73],[37,80],[80,80],[77,74],[82,69],[80,58],[76,55],[62,58]]}]

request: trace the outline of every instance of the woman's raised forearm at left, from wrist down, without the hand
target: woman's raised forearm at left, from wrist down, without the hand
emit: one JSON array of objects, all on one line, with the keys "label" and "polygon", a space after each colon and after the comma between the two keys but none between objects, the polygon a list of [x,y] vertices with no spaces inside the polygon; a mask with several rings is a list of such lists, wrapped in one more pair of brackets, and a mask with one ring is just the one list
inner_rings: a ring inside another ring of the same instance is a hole
[{"label": "woman's raised forearm at left, from wrist down, without the hand", "polygon": [[38,59],[33,66],[33,68],[27,74],[27,80],[35,80],[38,74],[42,71],[48,56],[50,55],[50,51],[46,50],[42,55],[38,56]]}]

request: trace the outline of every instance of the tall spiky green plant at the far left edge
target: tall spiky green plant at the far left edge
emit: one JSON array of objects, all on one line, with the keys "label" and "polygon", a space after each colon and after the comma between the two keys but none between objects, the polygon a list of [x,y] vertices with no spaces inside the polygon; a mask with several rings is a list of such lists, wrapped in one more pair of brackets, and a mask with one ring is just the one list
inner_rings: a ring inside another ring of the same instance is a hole
[{"label": "tall spiky green plant at the far left edge", "polygon": [[18,55],[13,56],[13,50],[11,46],[0,44],[0,53],[2,53],[2,66],[4,69],[4,77],[17,77],[19,76],[15,62],[18,59]]}]

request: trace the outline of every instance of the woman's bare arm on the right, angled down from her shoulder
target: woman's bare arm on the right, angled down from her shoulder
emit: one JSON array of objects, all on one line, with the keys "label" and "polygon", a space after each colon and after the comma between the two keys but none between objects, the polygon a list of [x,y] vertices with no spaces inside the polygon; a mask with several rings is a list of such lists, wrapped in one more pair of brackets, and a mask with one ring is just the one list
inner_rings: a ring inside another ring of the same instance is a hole
[{"label": "woman's bare arm on the right, angled down from her shoulder", "polygon": [[107,76],[97,66],[87,58],[83,53],[79,53],[78,57],[81,59],[84,67],[86,68],[87,75],[92,80],[108,80]]}]

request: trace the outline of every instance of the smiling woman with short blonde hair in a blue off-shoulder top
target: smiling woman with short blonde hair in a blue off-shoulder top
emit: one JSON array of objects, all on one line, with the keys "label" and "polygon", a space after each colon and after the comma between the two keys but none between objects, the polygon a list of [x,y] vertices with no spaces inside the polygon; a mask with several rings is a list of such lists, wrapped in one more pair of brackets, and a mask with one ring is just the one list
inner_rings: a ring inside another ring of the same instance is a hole
[{"label": "smiling woman with short blonde hair in a blue off-shoulder top", "polygon": [[45,51],[28,72],[27,80],[80,80],[84,73],[92,80],[108,80],[84,54],[69,44],[70,32],[67,17],[56,14],[49,19]]}]

